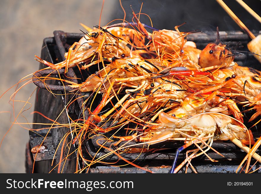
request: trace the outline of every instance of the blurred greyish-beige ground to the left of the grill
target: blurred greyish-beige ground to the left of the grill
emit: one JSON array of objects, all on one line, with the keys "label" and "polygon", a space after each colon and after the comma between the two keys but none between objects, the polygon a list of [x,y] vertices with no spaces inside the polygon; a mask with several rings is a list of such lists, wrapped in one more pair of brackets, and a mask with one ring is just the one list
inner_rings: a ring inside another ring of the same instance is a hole
[{"label": "blurred greyish-beige ground to the left of the grill", "polygon": [[[118,1],[106,1],[101,18],[105,25],[111,18],[111,10]],[[99,23],[101,0],[27,0],[0,1],[0,95],[16,84],[22,77],[38,69],[39,63],[34,55],[41,52],[45,37],[53,36],[54,30],[77,32],[82,27],[79,23],[94,26]],[[31,77],[31,76],[30,76]],[[15,99],[27,101],[35,89],[34,84],[23,87]],[[11,126],[12,106],[8,104],[9,97],[15,91],[12,88],[0,98],[0,139]],[[35,95],[29,102],[34,103]],[[24,103],[15,103],[15,116]],[[27,105],[24,109],[29,108]],[[9,111],[9,112],[6,112]],[[20,123],[32,122],[33,107],[19,116]],[[23,117],[24,116],[24,117]],[[10,121],[11,120],[11,121]],[[29,128],[28,125],[23,125]],[[25,172],[25,145],[28,141],[28,130],[15,124],[5,136],[0,147],[0,172]]]}]

